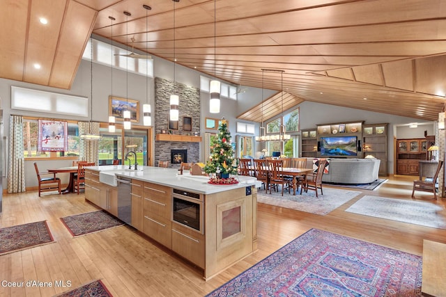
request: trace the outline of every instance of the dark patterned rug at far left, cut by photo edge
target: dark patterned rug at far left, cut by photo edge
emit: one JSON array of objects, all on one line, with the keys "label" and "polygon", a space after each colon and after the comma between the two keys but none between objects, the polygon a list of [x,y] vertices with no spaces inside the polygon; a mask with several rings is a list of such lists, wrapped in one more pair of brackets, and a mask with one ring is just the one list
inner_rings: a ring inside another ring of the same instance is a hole
[{"label": "dark patterned rug at far left, cut by photo edge", "polygon": [[0,255],[52,242],[54,239],[45,220],[0,229]]}]

